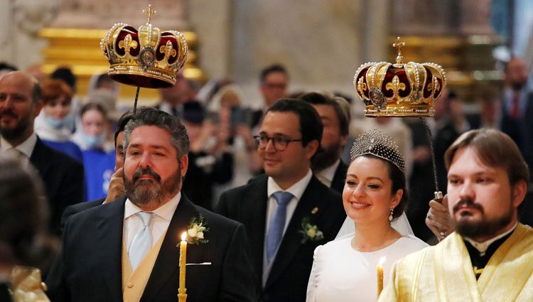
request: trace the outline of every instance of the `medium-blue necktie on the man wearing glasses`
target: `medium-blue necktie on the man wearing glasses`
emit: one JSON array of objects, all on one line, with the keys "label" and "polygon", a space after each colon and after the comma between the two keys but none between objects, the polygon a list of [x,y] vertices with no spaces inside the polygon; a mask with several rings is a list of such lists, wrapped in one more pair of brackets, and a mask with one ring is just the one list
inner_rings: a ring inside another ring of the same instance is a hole
[{"label": "medium-blue necktie on the man wearing glasses", "polygon": [[283,238],[283,230],[285,228],[285,221],[287,217],[287,205],[293,198],[289,192],[278,191],[274,194],[278,207],[274,211],[274,215],[270,218],[270,226],[266,232],[266,261],[270,263]]}]

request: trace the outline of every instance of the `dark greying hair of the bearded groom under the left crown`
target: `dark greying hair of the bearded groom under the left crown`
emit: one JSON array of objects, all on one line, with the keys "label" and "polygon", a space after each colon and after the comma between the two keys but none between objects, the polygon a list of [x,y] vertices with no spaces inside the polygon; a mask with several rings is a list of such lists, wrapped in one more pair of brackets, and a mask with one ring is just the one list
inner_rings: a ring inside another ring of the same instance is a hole
[{"label": "dark greying hair of the bearded groom under the left crown", "polygon": [[189,152],[189,136],[177,117],[154,108],[143,108],[131,117],[124,128],[124,149],[129,144],[131,132],[139,126],[156,126],[171,134],[171,144],[176,148],[178,161]]}]

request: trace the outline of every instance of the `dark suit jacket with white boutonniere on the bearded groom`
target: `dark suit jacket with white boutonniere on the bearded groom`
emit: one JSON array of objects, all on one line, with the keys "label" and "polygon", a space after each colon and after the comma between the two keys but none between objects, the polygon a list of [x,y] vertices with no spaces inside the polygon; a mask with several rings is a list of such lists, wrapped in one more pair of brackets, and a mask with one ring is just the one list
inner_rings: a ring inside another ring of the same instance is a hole
[{"label": "dark suit jacket with white boutonniere on the bearded groom", "polygon": [[[72,215],[65,223],[63,254],[46,284],[50,301],[122,301],[122,229],[125,198]],[[193,205],[182,194],[141,301],[176,302],[178,236],[193,217],[205,217],[205,244],[189,244],[188,301],[256,301],[255,276],[244,227]]]}]

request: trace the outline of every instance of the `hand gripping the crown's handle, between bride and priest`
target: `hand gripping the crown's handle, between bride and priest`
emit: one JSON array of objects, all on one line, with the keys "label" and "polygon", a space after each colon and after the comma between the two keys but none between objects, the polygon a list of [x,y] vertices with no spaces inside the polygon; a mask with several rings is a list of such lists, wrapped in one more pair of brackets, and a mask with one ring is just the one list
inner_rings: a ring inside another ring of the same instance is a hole
[{"label": "hand gripping the crown's handle, between bride and priest", "polygon": [[446,238],[455,230],[453,217],[448,212],[448,195],[444,196],[442,203],[435,200],[429,202],[429,211],[426,216],[426,225],[435,234],[438,241]]}]

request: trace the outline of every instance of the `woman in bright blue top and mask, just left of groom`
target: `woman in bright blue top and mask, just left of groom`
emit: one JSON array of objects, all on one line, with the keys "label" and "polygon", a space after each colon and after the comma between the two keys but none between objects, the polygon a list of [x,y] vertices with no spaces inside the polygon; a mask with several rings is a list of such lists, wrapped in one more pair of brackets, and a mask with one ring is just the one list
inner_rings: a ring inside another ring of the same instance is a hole
[{"label": "woman in bright blue top and mask, just left of groom", "polygon": [[80,110],[81,124],[74,134],[83,152],[87,200],[107,196],[114,173],[114,151],[104,147],[107,137],[107,112],[101,104],[89,102]]}]

